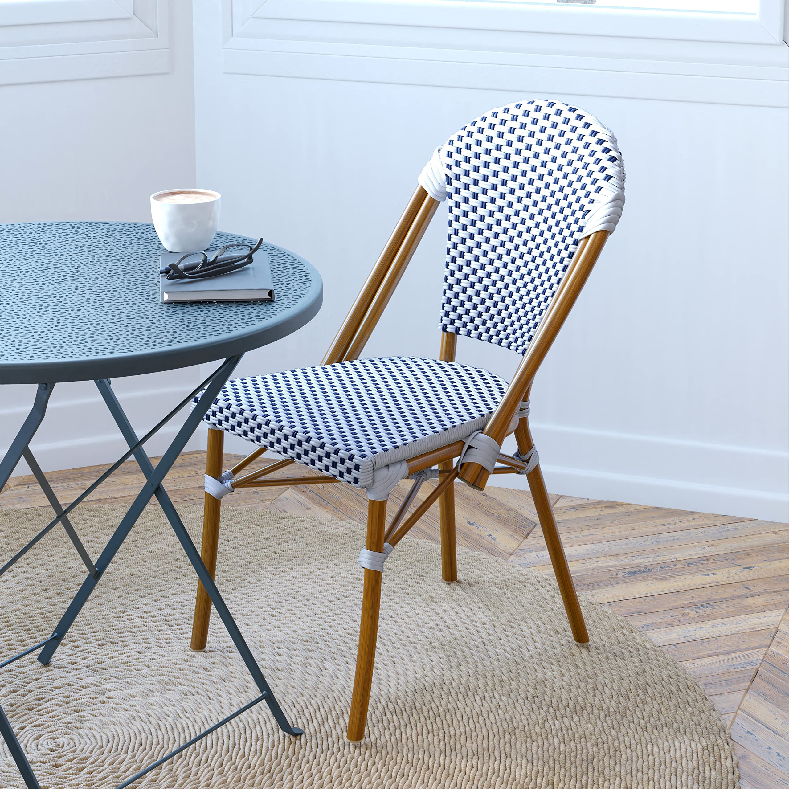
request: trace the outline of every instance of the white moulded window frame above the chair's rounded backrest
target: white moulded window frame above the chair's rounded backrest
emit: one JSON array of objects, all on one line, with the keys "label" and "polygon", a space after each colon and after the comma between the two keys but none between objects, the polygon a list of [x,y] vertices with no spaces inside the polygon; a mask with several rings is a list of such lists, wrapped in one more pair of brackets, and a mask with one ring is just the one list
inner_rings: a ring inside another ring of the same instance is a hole
[{"label": "white moulded window frame above the chair's rounded backrest", "polygon": [[[772,29],[784,2],[761,0]],[[222,0],[222,70],[518,98],[789,107],[789,47],[757,15],[735,16],[746,19],[558,3],[535,13],[495,0]]]}]

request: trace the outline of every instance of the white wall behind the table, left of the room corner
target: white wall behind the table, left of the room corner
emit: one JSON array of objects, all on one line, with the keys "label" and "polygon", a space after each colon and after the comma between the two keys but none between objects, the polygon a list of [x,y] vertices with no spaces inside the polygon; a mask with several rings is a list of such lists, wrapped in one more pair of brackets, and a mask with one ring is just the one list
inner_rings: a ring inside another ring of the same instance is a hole
[{"label": "white wall behind the table, left of the room corner", "polygon": [[[0,86],[0,222],[150,221],[152,192],[194,185],[189,0],[170,0],[169,17],[166,73]],[[0,62],[0,77],[8,64]],[[145,432],[189,392],[190,383],[198,383],[197,375],[193,368],[113,383],[133,424]],[[34,393],[32,386],[0,387],[0,452],[27,415]],[[166,446],[173,429],[153,439],[151,451]],[[43,469],[114,461],[123,449],[95,387],[58,384],[32,443]],[[16,473],[28,473],[24,462]]]}]

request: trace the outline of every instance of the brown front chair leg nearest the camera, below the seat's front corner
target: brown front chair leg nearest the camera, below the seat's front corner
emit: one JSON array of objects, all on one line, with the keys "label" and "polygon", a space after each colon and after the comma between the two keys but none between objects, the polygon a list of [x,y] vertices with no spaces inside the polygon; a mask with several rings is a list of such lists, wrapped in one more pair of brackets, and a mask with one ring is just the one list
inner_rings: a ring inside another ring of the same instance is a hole
[{"label": "brown front chair leg nearest the camera, below the seat's front corner", "polygon": [[[367,550],[383,551],[383,530],[386,525],[386,501],[367,503]],[[378,612],[381,604],[381,577],[376,570],[365,569],[364,593],[361,600],[361,626],[356,655],[356,675],[353,677],[353,696],[350,701],[347,738],[353,742],[365,736],[367,708],[370,703],[372,666],[376,660]]]}]

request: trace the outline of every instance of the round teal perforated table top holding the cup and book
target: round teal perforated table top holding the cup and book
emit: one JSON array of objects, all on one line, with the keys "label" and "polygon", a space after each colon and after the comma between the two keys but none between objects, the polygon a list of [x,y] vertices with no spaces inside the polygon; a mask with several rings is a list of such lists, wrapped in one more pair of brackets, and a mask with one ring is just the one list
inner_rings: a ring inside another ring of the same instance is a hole
[{"label": "round teal perforated table top holding the cup and book", "polygon": [[[211,248],[249,242],[218,233]],[[275,301],[162,304],[153,226],[0,225],[0,383],[133,376],[234,356],[285,337],[320,309],[306,260],[265,244]]]}]

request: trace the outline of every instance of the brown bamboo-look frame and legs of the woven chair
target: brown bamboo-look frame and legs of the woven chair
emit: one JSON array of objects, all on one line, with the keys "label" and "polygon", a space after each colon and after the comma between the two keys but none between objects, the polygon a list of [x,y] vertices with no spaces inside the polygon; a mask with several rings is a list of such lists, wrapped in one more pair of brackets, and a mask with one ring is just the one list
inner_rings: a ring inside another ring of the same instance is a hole
[{"label": "brown bamboo-look frame and legs of the woven chair", "polygon": [[[417,245],[421,241],[424,231],[436,213],[439,202],[421,187],[417,186],[409,204],[400,220],[395,226],[391,237],[381,252],[370,275],[362,286],[361,292],[354,301],[353,306],[342,323],[331,347],[323,358],[323,365],[331,365],[340,361],[357,359],[364,350],[365,344],[372,335],[376,323],[383,310],[387,307],[403,272],[413,257]],[[499,406],[495,409],[488,425],[484,430],[501,446],[504,438],[510,433],[510,424],[518,413],[522,400],[529,397],[534,376],[540,368],[546,353],[552,346],[559,329],[570,313],[582,287],[589,278],[597,258],[600,256],[608,232],[600,230],[589,237],[581,239],[569,270],[561,282],[555,297],[548,308],[544,319],[537,330],[522,361],[514,374]],[[439,358],[442,361],[454,361],[458,335],[443,331]],[[533,449],[533,439],[529,432],[528,417],[521,417],[514,431],[518,443],[518,454],[525,458]],[[219,429],[208,432],[208,458],[206,473],[210,477],[220,477],[222,474],[222,445],[223,433]],[[390,525],[386,525],[387,502],[368,500],[367,541],[368,551],[382,552],[383,544],[387,542],[392,546],[398,544],[409,529],[424,515],[432,504],[439,500],[441,523],[441,564],[444,581],[456,581],[458,578],[455,522],[454,522],[454,481],[461,479],[477,490],[484,490],[490,473],[484,467],[474,462],[465,462],[457,466],[454,462],[462,453],[464,442],[456,441],[446,447],[426,452],[407,461],[409,475],[434,466],[439,468],[439,481],[432,492],[406,518],[406,511],[416,499],[418,486],[417,480],[409,495],[406,497],[398,513],[392,518]],[[247,468],[252,462],[264,454],[265,448],[256,449],[248,457],[239,462],[231,472],[236,475]],[[522,473],[525,463],[518,458],[499,454],[500,466],[492,471],[494,474]],[[233,479],[233,488],[255,488],[269,486],[288,486],[294,484],[335,484],[338,482],[333,477],[276,477],[267,479],[271,473],[290,466],[294,461],[290,459],[275,462],[263,469],[247,473],[243,477]],[[579,644],[589,641],[581,608],[578,604],[578,595],[575,592],[570,568],[564,553],[559,531],[548,498],[548,490],[537,463],[526,476],[529,489],[532,492],[535,508],[540,519],[544,537],[548,545],[548,554],[552,562],[556,580],[562,595],[567,619],[573,638]],[[216,567],[217,544],[219,541],[219,499],[208,493],[205,495],[204,531],[202,558],[213,578]],[[351,700],[350,715],[348,719],[347,738],[352,741],[361,740],[365,735],[367,710],[372,685],[372,669],[375,662],[376,638],[378,632],[378,617],[381,597],[382,573],[377,570],[365,569],[365,578],[362,594],[361,626],[357,651],[356,674],[353,681],[353,696]],[[192,649],[205,649],[208,637],[208,624],[211,615],[211,601],[202,585],[198,588],[195,618],[192,634]]]}]

